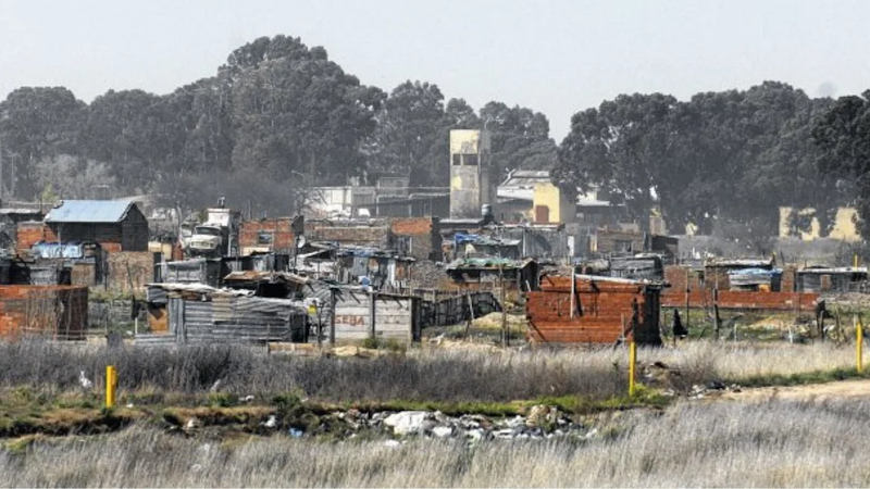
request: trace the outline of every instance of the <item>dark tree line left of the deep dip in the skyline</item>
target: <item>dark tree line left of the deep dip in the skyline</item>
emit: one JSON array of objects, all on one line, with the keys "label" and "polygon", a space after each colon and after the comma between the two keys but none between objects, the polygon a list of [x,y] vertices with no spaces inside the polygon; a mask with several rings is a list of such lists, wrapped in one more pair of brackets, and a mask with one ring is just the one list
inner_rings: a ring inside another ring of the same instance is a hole
[{"label": "dark tree line left of the deep dip in the skyline", "polygon": [[366,86],[298,38],[259,38],[217,73],[158,96],[110,90],[85,103],[64,87],[23,87],[0,102],[3,195],[159,196],[192,209],[226,196],[287,214],[312,185],[373,180],[446,187],[447,134],[486,125],[501,171],[555,164],[544,114],[480,111],[430,83]]}]

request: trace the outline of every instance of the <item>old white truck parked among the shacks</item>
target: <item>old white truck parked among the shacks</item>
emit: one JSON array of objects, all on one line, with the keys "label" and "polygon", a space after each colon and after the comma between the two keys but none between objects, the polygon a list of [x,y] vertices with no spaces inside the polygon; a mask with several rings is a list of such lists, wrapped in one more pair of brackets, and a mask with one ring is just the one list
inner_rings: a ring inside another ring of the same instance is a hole
[{"label": "old white truck parked among the shacks", "polygon": [[217,258],[238,254],[238,228],[241,213],[227,208],[206,210],[206,221],[194,226],[185,241],[185,252],[190,256]]}]

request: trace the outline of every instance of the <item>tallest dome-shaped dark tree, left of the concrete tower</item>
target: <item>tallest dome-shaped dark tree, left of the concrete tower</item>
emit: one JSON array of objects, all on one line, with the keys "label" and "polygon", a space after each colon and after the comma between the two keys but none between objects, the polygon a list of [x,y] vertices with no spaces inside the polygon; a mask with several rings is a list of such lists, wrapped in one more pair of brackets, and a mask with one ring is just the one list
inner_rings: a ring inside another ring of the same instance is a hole
[{"label": "tallest dome-shaped dark tree, left of the concrete tower", "polygon": [[233,79],[234,166],[333,184],[362,171],[360,145],[374,131],[383,93],[345,74],[323,48],[261,38],[234,51],[222,73]]}]

